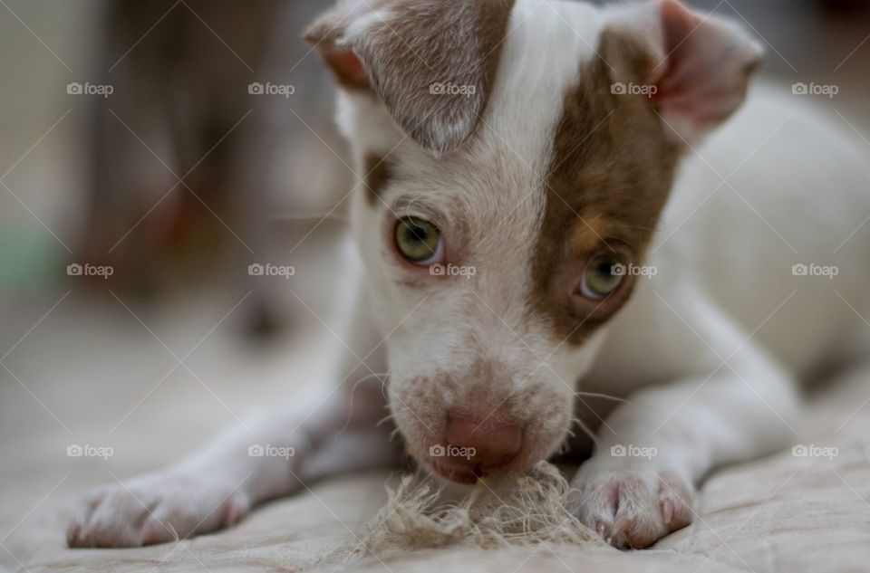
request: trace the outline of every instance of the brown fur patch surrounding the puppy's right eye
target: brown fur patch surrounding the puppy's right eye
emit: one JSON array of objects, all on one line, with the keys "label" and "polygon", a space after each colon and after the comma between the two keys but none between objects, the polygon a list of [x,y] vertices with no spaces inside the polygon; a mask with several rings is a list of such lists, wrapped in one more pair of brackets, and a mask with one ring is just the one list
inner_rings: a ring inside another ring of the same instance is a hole
[{"label": "brown fur patch surrounding the puppy's right eye", "polygon": [[641,263],[681,151],[650,100],[611,91],[616,80],[607,62],[619,81],[644,83],[655,66],[652,54],[615,29],[604,31],[598,52],[565,95],[533,269],[536,309],[551,317],[560,340],[573,344],[609,320],[632,290],[629,278],[601,303],[578,301],[572,292],[586,263],[611,249]]}]

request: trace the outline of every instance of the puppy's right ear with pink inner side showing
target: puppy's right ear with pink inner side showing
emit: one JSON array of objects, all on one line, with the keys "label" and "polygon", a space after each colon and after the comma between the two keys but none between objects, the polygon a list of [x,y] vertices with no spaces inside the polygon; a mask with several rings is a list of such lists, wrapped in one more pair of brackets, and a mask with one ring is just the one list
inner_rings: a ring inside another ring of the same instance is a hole
[{"label": "puppy's right ear with pink inner side showing", "polygon": [[646,84],[665,129],[691,144],[743,103],[764,50],[736,23],[652,0],[614,18],[602,53],[614,81]]}]

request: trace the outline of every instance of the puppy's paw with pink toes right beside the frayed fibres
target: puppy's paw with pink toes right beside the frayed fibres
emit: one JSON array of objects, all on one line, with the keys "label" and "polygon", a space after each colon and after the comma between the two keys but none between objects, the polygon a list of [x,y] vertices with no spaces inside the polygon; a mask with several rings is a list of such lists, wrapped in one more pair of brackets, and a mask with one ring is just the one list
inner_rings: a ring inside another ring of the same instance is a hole
[{"label": "puppy's paw with pink toes right beside the frayed fibres", "polygon": [[619,549],[649,547],[691,523],[694,488],[674,472],[581,471],[575,487],[571,511]]}]

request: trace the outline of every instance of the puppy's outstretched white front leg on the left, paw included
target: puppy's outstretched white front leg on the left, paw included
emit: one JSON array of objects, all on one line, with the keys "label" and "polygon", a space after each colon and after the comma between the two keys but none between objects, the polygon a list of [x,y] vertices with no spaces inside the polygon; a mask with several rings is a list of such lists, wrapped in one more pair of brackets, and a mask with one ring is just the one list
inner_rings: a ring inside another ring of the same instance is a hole
[{"label": "puppy's outstretched white front leg on the left, paw included", "polygon": [[[401,452],[388,442],[391,428],[376,427],[385,399],[372,368],[381,368],[382,356],[370,346],[377,337],[366,330],[356,329],[349,339],[358,350],[348,353],[340,387],[250,425],[251,431],[227,433],[168,469],[98,488],[70,525],[69,545],[136,547],[207,533],[316,477],[397,461]],[[356,448],[359,455],[326,455],[349,440],[367,444]]]}]

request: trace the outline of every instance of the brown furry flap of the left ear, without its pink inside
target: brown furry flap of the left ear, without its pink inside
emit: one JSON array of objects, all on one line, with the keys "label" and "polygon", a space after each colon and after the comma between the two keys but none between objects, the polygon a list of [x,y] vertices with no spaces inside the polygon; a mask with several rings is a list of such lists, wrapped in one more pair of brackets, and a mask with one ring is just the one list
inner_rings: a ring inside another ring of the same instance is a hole
[{"label": "brown furry flap of the left ear, without its pink inside", "polygon": [[[513,0],[403,2],[356,48],[396,123],[423,148],[446,152],[477,127],[495,83]],[[433,92],[455,86],[473,93]]]}]

